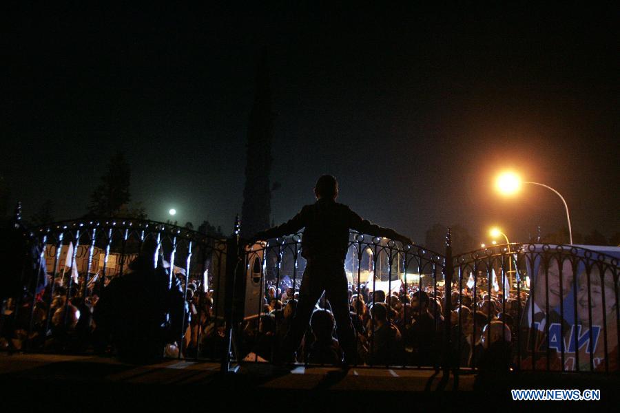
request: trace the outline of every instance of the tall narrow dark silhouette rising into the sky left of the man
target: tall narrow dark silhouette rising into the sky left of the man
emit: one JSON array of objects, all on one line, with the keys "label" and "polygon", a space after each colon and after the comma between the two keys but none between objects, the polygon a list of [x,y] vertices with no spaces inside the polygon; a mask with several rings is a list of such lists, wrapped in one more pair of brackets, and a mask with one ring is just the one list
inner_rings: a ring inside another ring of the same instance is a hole
[{"label": "tall narrow dark silhouette rising into the sky left of the man", "polygon": [[267,70],[267,49],[264,47],[256,67],[254,105],[247,127],[247,161],[241,210],[241,236],[248,237],[269,228],[271,214],[271,139],[273,112]]}]

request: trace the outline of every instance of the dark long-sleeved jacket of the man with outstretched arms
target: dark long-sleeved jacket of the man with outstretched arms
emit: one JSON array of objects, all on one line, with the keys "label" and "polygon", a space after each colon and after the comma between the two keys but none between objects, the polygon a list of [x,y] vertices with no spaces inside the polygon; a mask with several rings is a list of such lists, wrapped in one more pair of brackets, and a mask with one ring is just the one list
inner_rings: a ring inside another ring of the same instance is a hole
[{"label": "dark long-sleeved jacket of the man with outstretched arms", "polygon": [[282,237],[297,233],[304,227],[302,256],[307,259],[339,257],[344,260],[349,248],[349,229],[377,237],[394,240],[400,238],[393,229],[382,228],[371,224],[368,220],[362,220],[360,215],[351,211],[347,205],[323,198],[303,207],[289,222],[262,231],[255,237],[260,240]]}]

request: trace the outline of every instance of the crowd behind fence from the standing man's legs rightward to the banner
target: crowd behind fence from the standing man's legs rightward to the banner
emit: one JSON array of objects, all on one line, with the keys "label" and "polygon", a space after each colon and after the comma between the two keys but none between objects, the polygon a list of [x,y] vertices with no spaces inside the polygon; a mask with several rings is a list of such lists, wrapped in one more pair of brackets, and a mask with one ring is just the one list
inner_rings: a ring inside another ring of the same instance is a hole
[{"label": "crowd behind fence from the standing man's legs rightward to the banner", "polygon": [[[298,285],[275,284],[266,283],[258,322],[245,322],[242,348],[249,354],[246,360],[273,360],[291,327],[298,303]],[[402,284],[391,295],[383,290],[373,293],[371,289],[367,283],[349,284],[357,363],[442,365],[446,356],[443,286],[420,289],[417,285]],[[523,293],[520,298],[522,307],[527,296]],[[501,292],[488,295],[465,287],[460,294],[458,290],[451,291],[451,304],[451,362],[461,367],[509,369],[516,350],[513,331],[519,319],[516,295],[504,298]],[[331,305],[323,295],[316,304],[295,361],[338,365],[343,349],[335,338],[335,328]]]}]

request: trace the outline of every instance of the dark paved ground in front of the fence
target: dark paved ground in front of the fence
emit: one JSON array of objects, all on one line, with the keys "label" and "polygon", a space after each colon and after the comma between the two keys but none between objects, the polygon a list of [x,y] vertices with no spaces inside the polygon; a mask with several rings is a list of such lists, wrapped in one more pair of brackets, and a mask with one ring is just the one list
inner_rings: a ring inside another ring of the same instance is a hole
[{"label": "dark paved ground in front of the fence", "polygon": [[[620,401],[619,383],[618,376],[601,375],[537,373],[476,381],[473,374],[464,374],[454,391],[452,375],[444,381],[441,373],[429,370],[302,366],[291,370],[248,363],[235,374],[223,375],[218,364],[205,362],[136,366],[103,357],[0,353],[0,388],[13,389],[4,392],[3,405],[29,411],[49,411],[51,405],[79,405],[79,411],[130,405],[149,410],[245,406],[261,412],[269,406],[267,410],[275,412],[287,406],[316,412],[344,407],[355,413],[390,405],[398,411],[422,405],[462,411],[459,406],[478,405],[495,411],[497,403],[517,407],[510,388],[601,388],[603,402],[615,403]],[[583,407],[586,402],[572,403]]]}]

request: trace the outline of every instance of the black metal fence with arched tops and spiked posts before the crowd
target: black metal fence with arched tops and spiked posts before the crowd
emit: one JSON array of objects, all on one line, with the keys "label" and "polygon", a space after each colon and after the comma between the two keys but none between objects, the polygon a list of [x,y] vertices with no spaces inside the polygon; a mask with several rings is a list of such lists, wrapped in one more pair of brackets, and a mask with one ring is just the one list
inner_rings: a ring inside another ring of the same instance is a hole
[{"label": "black metal fence with arched tops and spiked posts before the crowd", "polygon": [[[303,235],[245,245],[238,230],[237,220],[235,235],[219,240],[140,220],[41,227],[27,243],[39,248],[46,282],[26,272],[21,289],[3,295],[0,344],[130,357],[143,350],[219,361],[225,371],[277,361],[307,266]],[[351,232],[342,265],[354,366],[619,370],[615,257],[548,244],[452,257],[449,231],[444,255]],[[332,304],[322,296],[316,306]],[[333,317],[320,311],[314,322],[294,361],[342,359],[339,343],[323,346],[316,333],[332,337]]]}]

